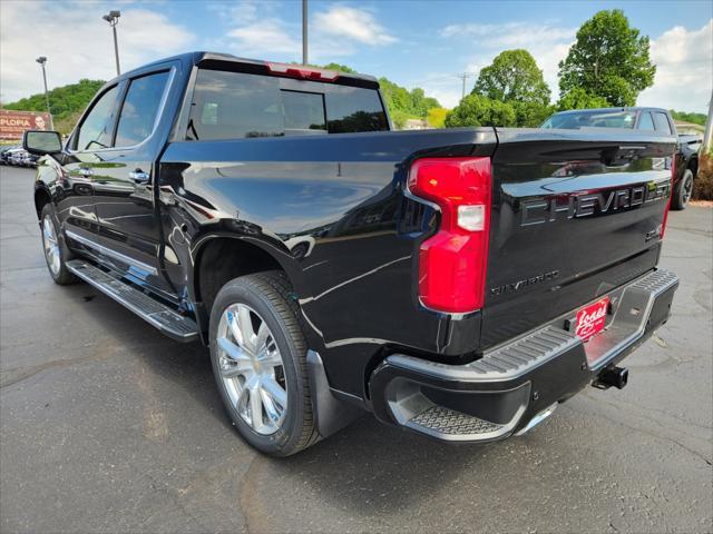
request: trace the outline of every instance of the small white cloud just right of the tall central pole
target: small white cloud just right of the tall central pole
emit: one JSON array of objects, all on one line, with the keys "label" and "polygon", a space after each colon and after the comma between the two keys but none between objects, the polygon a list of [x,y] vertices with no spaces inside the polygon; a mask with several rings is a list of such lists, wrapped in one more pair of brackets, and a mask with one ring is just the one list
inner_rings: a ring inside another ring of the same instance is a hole
[{"label": "small white cloud just right of the tall central pole", "polygon": [[332,6],[314,16],[313,27],[318,33],[348,39],[370,47],[391,44],[397,38],[379,24],[374,16],[362,9]]}]

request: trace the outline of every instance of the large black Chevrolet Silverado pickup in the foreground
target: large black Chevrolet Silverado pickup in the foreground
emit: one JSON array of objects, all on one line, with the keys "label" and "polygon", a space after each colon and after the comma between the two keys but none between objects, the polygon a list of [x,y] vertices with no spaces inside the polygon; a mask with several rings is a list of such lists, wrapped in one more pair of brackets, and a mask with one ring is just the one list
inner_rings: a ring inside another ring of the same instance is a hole
[{"label": "large black Chevrolet Silverado pickup in the foreground", "polygon": [[670,316],[676,139],[389,131],[374,78],[194,52],[108,82],[43,155],[50,275],[209,347],[240,434],[293,454],[364,411],[527,432]]}]

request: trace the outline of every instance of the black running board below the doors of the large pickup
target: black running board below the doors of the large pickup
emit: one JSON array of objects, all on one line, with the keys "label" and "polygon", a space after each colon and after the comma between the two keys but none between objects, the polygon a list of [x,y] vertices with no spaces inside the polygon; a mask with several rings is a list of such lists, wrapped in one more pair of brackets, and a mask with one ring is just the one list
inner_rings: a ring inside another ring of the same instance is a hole
[{"label": "black running board below the doors of the large pickup", "polygon": [[193,319],[184,317],[88,261],[72,259],[67,261],[67,268],[167,336],[184,343],[198,338],[198,326]]}]

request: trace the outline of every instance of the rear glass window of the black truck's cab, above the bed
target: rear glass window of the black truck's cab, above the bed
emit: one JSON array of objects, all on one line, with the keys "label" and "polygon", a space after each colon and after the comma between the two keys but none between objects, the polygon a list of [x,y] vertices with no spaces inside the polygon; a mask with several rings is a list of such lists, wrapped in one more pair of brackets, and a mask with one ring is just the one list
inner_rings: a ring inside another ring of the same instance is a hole
[{"label": "rear glass window of the black truck's cab, above the bed", "polygon": [[201,69],[188,140],[388,130],[375,89]]}]

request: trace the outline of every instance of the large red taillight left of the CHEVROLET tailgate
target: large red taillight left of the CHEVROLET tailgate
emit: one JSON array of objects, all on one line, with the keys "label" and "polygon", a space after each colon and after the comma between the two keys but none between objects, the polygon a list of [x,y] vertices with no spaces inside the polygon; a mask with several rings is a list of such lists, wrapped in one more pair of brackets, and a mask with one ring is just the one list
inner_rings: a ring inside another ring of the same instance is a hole
[{"label": "large red taillight left of the CHEVROLET tailgate", "polygon": [[424,158],[412,195],[440,208],[440,227],[419,250],[419,298],[438,312],[468,313],[485,299],[490,228],[490,158]]}]

